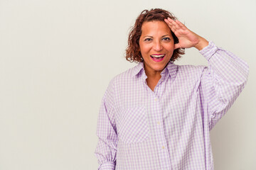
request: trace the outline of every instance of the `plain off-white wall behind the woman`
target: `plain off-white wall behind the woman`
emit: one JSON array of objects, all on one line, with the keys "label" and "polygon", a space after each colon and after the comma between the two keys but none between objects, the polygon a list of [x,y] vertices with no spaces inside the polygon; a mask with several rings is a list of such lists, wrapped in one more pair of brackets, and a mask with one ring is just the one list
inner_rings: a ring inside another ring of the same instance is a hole
[{"label": "plain off-white wall behind the woman", "polygon": [[[97,114],[110,79],[134,67],[127,35],[164,8],[250,65],[211,132],[215,169],[256,169],[256,1],[0,0],[0,169],[97,169]],[[207,64],[196,49],[176,64]]]}]

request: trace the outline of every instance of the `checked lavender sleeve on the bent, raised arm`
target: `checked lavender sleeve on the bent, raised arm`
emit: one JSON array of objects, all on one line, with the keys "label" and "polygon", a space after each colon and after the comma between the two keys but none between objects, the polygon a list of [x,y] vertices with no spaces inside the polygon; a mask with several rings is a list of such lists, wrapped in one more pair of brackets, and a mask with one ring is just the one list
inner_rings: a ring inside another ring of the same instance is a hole
[{"label": "checked lavender sleeve on the bent, raised arm", "polygon": [[216,47],[213,42],[200,51],[208,60],[203,70],[201,93],[207,101],[210,130],[228,111],[244,89],[249,67],[233,53]]}]

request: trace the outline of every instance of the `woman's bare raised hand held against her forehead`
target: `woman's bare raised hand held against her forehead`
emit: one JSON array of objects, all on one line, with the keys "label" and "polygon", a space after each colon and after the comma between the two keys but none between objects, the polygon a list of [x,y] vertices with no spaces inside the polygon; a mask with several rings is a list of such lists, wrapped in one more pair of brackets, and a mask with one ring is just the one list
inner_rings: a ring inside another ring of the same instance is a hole
[{"label": "woman's bare raised hand held against her forehead", "polygon": [[165,19],[164,21],[178,38],[178,43],[174,45],[174,49],[196,47],[198,50],[202,50],[203,47],[208,45],[206,39],[193,33],[180,21],[174,21],[171,18]]}]

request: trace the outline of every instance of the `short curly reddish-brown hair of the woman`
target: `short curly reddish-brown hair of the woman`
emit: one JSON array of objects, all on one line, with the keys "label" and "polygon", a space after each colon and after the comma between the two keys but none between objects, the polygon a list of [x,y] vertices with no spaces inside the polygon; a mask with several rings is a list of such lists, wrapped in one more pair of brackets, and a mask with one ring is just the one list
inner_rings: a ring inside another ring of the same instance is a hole
[{"label": "short curly reddish-brown hair of the woman", "polygon": [[[148,21],[164,21],[166,18],[171,18],[176,20],[177,18],[170,13],[161,8],[152,8],[151,10],[144,10],[138,16],[137,20],[132,27],[132,30],[129,32],[128,38],[128,47],[126,50],[126,59],[129,62],[142,62],[142,54],[139,50],[139,38],[142,35],[142,24]],[[165,21],[164,21],[165,22]],[[176,35],[171,31],[171,35],[174,38],[174,44],[178,43],[178,38]],[[174,62],[178,57],[185,54],[185,50],[183,48],[177,48],[174,50],[173,55],[171,56],[171,62]]]}]

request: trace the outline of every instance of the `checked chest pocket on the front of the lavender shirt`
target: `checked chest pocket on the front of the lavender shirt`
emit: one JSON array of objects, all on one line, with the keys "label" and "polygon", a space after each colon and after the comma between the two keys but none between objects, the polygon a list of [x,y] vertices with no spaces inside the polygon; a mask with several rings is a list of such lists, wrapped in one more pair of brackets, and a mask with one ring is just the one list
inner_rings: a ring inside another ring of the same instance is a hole
[{"label": "checked chest pocket on the front of the lavender shirt", "polygon": [[149,137],[149,125],[144,106],[124,108],[118,137],[124,143],[144,142]]}]

